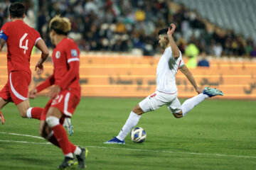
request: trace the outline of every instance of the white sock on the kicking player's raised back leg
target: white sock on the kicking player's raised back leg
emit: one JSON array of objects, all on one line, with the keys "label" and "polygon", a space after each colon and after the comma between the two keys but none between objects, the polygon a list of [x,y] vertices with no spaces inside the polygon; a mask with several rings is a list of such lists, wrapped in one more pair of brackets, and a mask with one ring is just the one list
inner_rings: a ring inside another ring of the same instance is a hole
[{"label": "white sock on the kicking player's raised back leg", "polygon": [[191,111],[192,108],[197,106],[208,97],[209,96],[207,96],[206,94],[198,94],[197,96],[194,96],[193,98],[189,98],[188,100],[184,101],[184,103],[182,103],[181,105],[182,115],[185,116],[186,113]]}]

